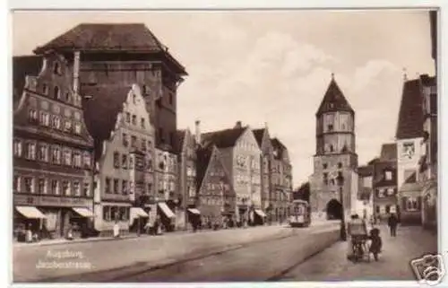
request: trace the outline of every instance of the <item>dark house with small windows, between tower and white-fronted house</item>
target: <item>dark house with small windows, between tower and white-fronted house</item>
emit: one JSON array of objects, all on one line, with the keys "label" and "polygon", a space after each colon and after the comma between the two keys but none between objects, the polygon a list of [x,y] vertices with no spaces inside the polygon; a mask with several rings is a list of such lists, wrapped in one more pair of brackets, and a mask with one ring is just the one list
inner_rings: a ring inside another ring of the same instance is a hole
[{"label": "dark house with small windows, between tower and white-fronted house", "polygon": [[397,145],[383,144],[381,154],[373,163],[375,217],[387,221],[390,214],[400,218],[397,188]]}]

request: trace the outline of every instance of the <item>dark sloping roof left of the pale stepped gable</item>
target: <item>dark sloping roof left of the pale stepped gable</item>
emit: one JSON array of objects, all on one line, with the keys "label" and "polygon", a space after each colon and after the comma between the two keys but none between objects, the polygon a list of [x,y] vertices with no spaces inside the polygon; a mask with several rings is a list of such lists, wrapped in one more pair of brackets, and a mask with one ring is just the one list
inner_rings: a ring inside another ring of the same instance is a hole
[{"label": "dark sloping roof left of the pale stepped gable", "polygon": [[84,120],[90,135],[95,142],[95,159],[102,153],[103,141],[107,140],[116,125],[116,117],[123,109],[131,87],[118,86],[86,86],[82,87],[82,95],[92,96],[83,100]]}]

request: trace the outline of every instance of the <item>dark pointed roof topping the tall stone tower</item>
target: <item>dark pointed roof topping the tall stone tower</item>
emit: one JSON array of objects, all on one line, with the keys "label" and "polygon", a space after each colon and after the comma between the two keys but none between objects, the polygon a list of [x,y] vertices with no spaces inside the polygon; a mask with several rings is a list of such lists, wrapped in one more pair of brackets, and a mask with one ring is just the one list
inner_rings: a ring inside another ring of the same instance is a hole
[{"label": "dark pointed roof topping the tall stone tower", "polygon": [[332,78],[332,81],[328,85],[327,92],[325,92],[321,105],[319,106],[319,109],[317,109],[316,116],[333,111],[348,111],[355,113],[351,108],[349,101],[340,91],[339,85],[334,78]]}]

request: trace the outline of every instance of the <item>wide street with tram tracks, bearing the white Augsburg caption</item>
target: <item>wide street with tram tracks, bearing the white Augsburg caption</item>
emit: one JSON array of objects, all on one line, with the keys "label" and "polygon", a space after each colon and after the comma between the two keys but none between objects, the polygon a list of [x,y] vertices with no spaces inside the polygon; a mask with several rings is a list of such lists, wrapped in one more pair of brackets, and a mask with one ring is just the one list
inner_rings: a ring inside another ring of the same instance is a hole
[{"label": "wide street with tram tracks, bearing the white Augsburg caption", "polygon": [[[13,251],[13,276],[15,282],[263,280],[297,265],[310,247],[318,248],[316,240],[330,246],[338,226],[332,222],[305,229],[275,225],[20,247]],[[334,236],[322,237],[327,234]],[[173,269],[187,271],[173,275]]]}]

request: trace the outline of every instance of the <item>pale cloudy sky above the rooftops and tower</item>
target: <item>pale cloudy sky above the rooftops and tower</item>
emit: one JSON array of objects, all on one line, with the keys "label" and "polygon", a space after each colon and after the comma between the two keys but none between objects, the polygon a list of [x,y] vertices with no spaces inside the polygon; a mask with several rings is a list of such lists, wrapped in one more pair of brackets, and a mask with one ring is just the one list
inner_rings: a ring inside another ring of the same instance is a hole
[{"label": "pale cloudy sky above the rooftops and tower", "polygon": [[314,113],[332,72],[356,111],[365,163],[393,141],[403,83],[434,74],[426,11],[15,13],[13,55],[81,22],[144,22],[185,65],[178,127],[268,123],[289,148],[294,182],[313,172]]}]

